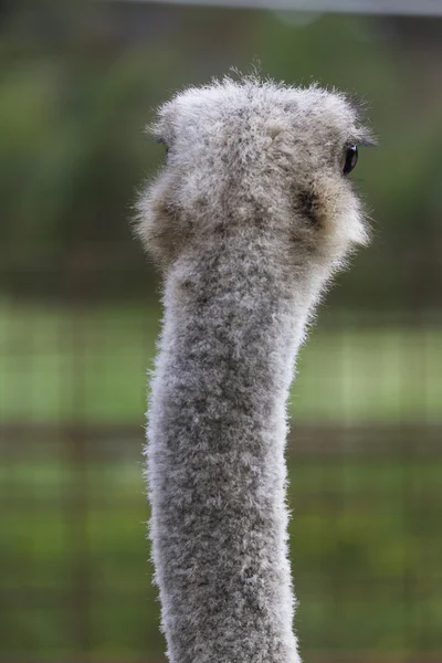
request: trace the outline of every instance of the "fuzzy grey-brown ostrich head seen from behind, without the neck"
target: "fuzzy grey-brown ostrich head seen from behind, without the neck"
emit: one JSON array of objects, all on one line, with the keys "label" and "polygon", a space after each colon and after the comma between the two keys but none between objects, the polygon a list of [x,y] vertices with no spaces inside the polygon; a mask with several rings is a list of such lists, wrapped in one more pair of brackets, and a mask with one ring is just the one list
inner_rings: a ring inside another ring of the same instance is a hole
[{"label": "fuzzy grey-brown ostrich head seen from behind, without the neck", "polygon": [[371,137],[341,93],[227,78],[175,96],[152,133],[166,162],[138,203],[137,231],[162,269],[236,234],[327,276],[367,241],[348,173]]}]

